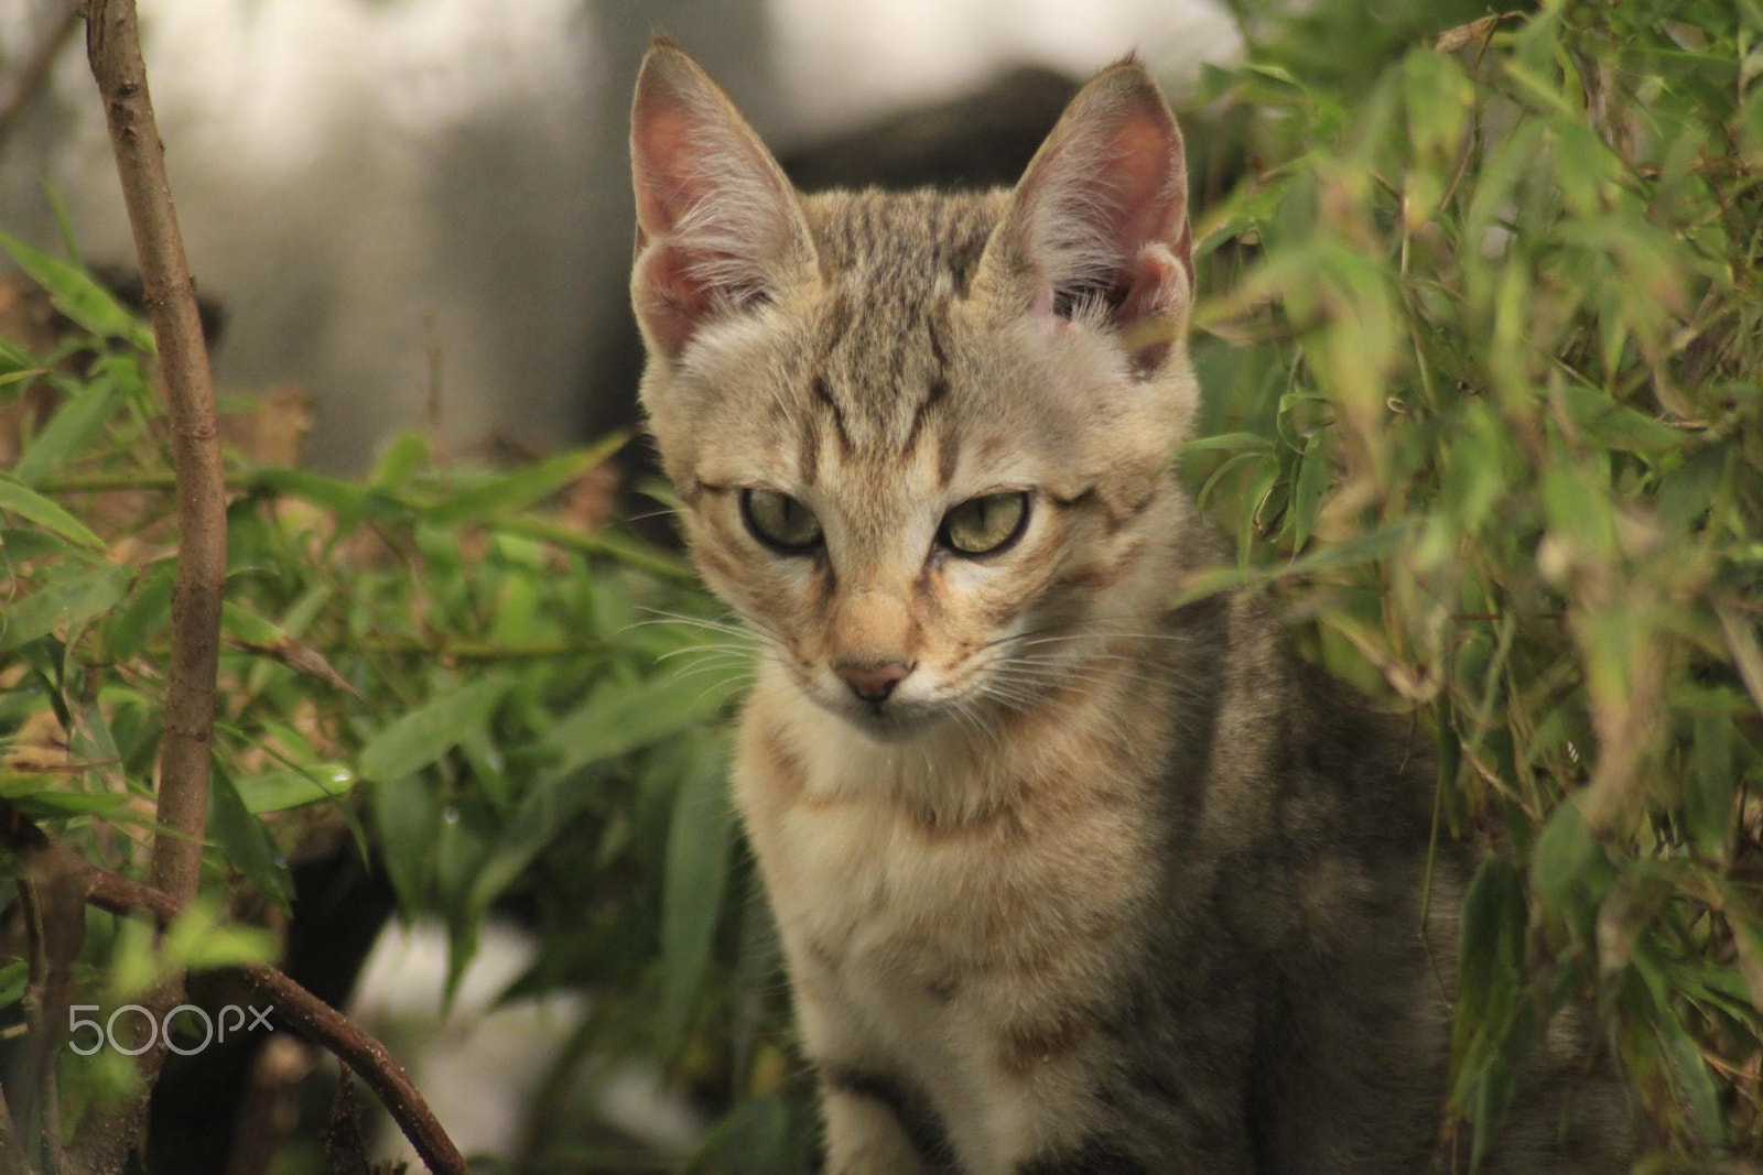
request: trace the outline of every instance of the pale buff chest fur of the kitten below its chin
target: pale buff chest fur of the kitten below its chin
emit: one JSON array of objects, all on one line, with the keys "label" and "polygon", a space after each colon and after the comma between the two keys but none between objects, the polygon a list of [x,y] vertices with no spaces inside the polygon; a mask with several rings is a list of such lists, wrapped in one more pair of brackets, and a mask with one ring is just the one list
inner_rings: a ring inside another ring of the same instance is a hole
[{"label": "pale buff chest fur of the kitten below its chin", "polygon": [[897,761],[816,752],[790,733],[749,710],[735,794],[807,1055],[897,1075],[924,1090],[968,1170],[1014,1170],[1063,1120],[1047,1105],[1075,1097],[1098,1064],[1102,1038],[1086,1027],[1098,992],[1153,918],[1146,761],[1019,742],[1033,756],[919,777],[948,800],[938,809],[887,773]]}]

